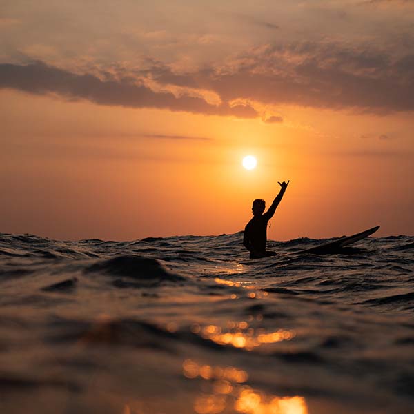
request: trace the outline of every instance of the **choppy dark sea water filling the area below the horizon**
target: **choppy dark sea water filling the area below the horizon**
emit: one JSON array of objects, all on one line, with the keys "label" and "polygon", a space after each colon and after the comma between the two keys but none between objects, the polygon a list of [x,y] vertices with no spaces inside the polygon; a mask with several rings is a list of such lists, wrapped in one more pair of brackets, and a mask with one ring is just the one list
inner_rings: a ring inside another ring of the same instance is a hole
[{"label": "choppy dark sea water filling the area below the horizon", "polygon": [[409,413],[414,237],[0,233],[0,412]]}]

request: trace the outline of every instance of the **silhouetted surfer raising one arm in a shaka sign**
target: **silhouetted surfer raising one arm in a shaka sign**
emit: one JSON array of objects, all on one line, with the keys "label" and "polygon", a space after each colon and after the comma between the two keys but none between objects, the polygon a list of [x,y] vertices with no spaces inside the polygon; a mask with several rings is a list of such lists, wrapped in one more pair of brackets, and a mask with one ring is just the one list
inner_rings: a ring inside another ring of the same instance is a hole
[{"label": "silhouetted surfer raising one arm in a shaka sign", "polygon": [[285,181],[282,184],[279,183],[279,186],[282,188],[266,213],[263,213],[265,207],[264,199],[255,199],[253,201],[253,218],[244,228],[243,237],[243,244],[250,252],[250,259],[259,259],[259,257],[274,256],[276,254],[275,252],[266,251],[267,224],[275,214],[276,208],[279,206],[289,182],[290,180],[287,183]]}]

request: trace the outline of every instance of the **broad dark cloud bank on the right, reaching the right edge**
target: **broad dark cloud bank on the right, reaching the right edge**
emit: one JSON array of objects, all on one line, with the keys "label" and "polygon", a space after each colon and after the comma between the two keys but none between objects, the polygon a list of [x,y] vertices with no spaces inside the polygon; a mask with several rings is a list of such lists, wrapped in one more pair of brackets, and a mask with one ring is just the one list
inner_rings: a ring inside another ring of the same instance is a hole
[{"label": "broad dark cloud bank on the right, reaching the right edge", "polygon": [[395,59],[371,48],[299,42],[257,48],[233,66],[176,73],[157,66],[160,83],[213,90],[224,101],[386,113],[414,110],[414,55]]}]

